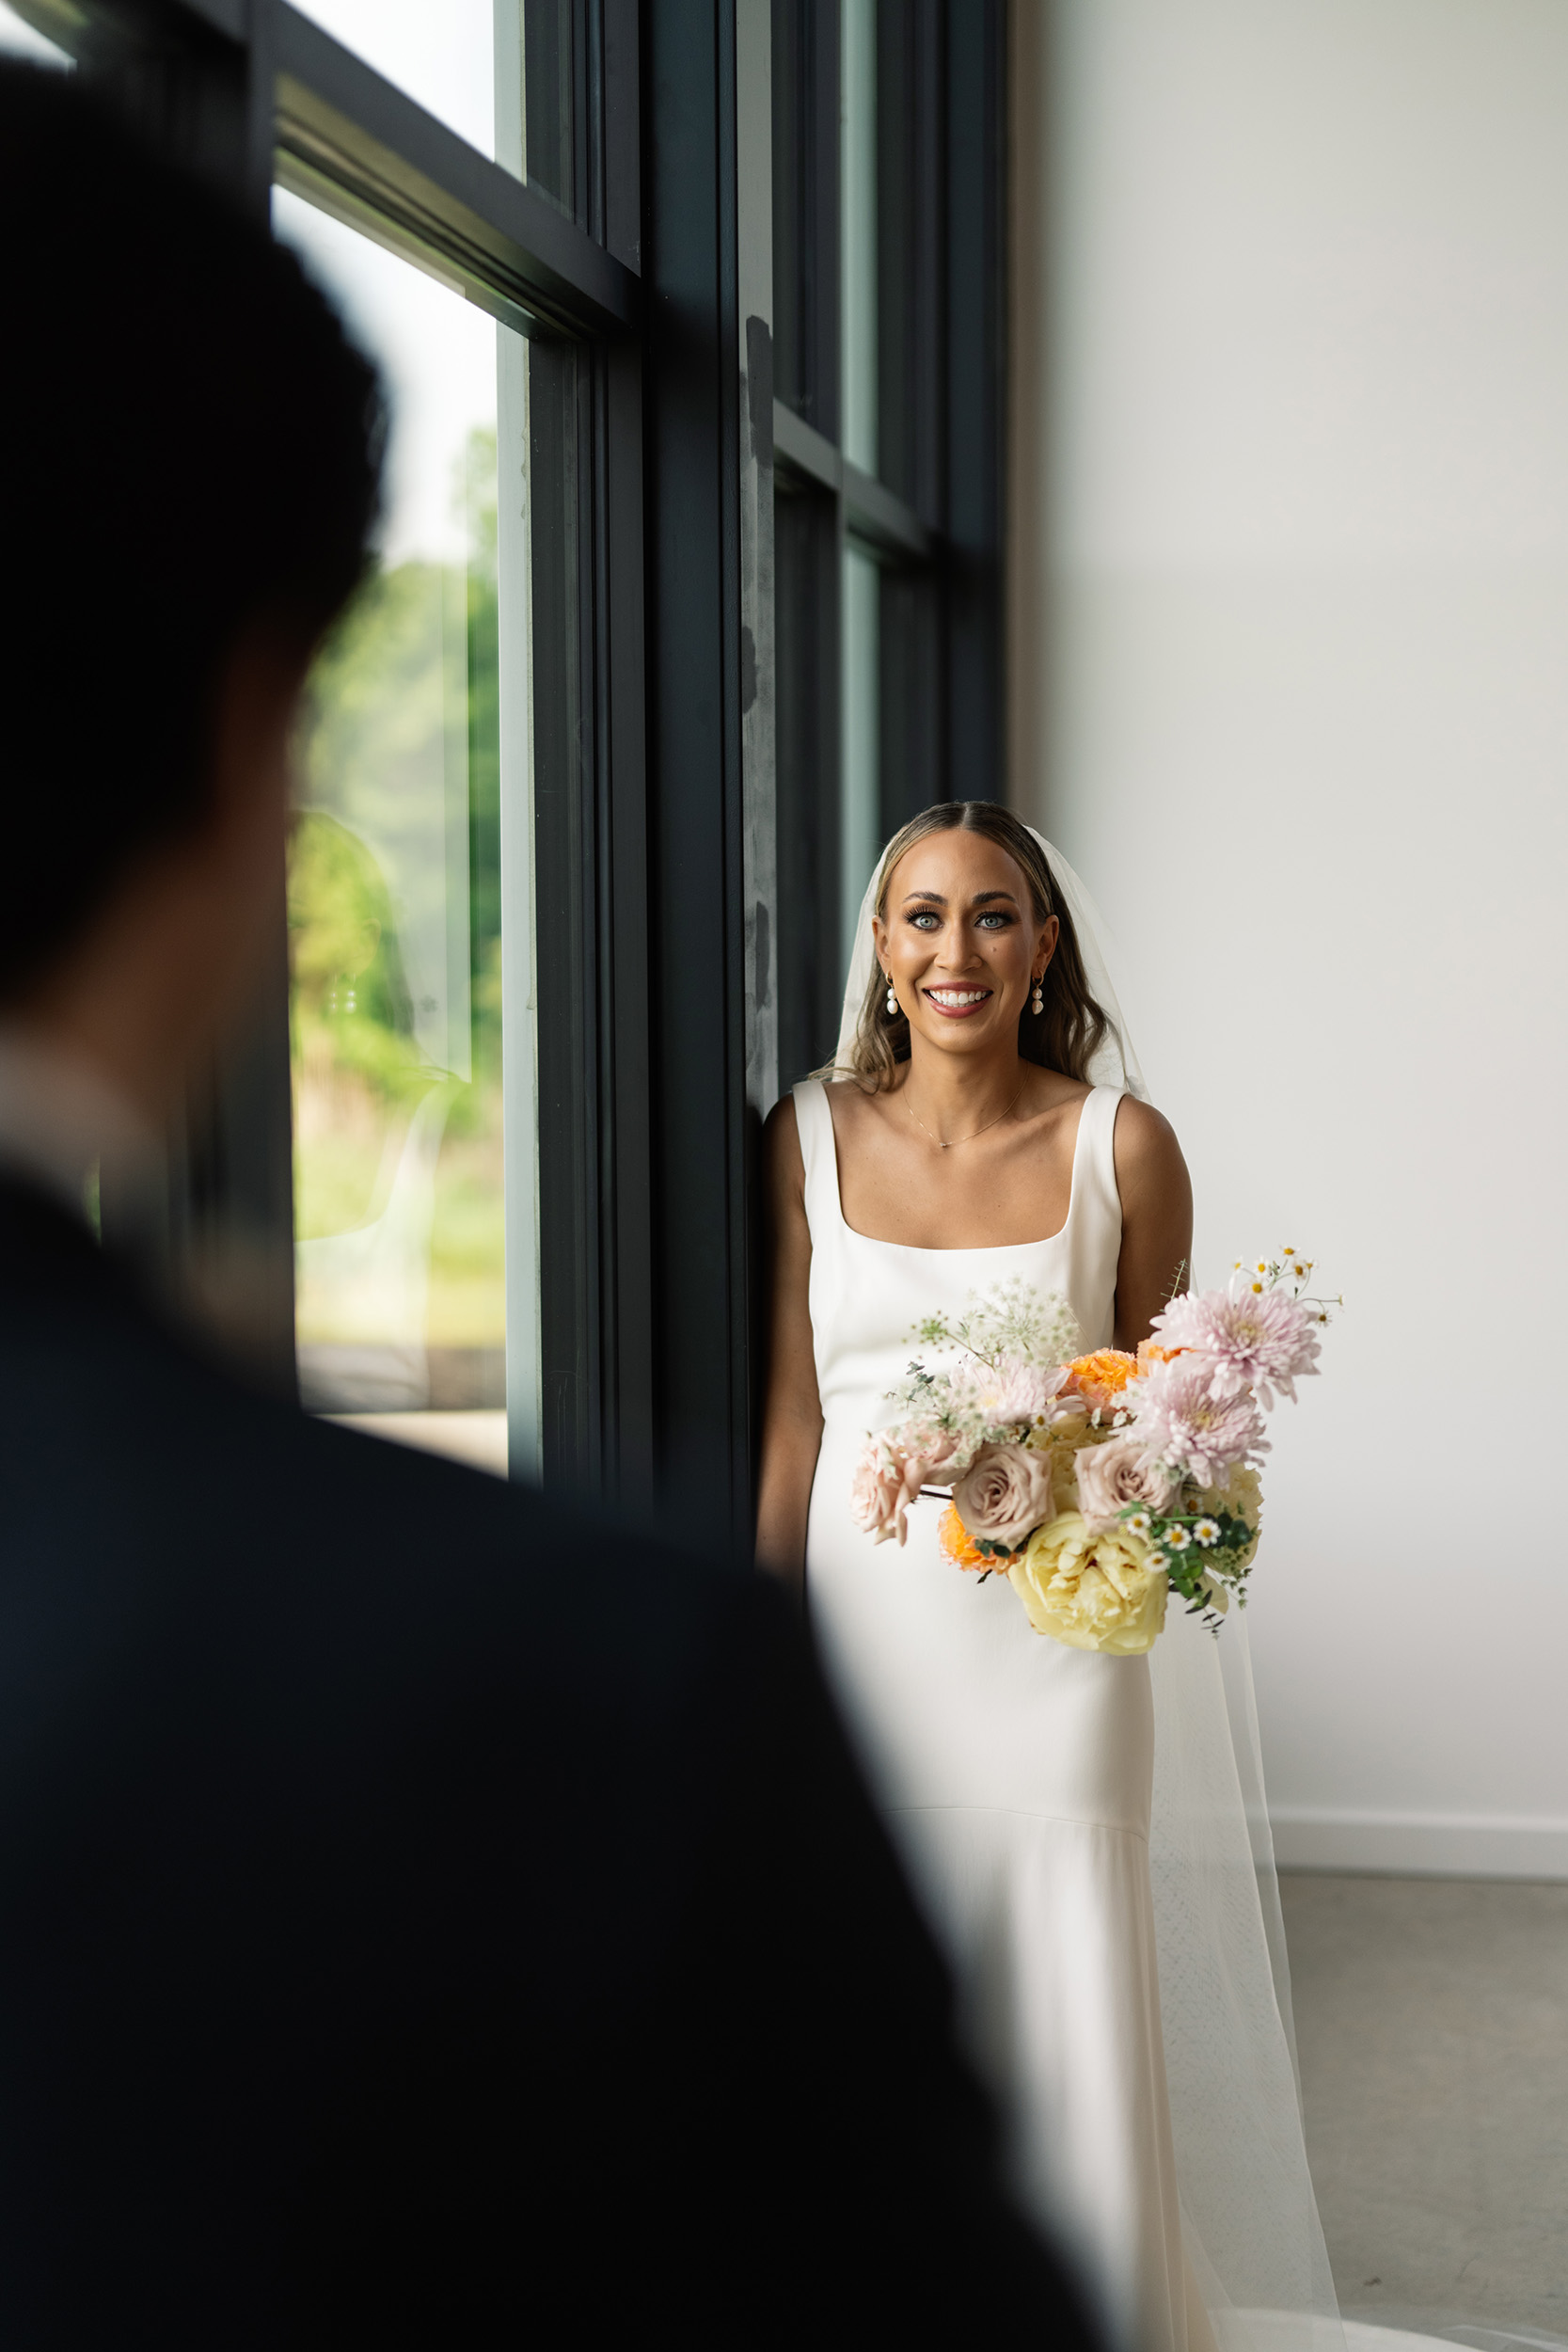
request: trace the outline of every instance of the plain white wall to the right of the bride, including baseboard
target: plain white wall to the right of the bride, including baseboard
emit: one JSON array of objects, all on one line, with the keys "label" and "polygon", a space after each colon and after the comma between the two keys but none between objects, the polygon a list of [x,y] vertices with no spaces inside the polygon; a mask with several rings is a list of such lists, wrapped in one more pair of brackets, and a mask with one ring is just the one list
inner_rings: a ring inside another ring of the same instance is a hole
[{"label": "plain white wall to the right of the bride, including baseboard", "polygon": [[1568,1877],[1568,5],[1065,0],[1046,64],[1016,788],[1199,1277],[1347,1294],[1251,1609],[1281,1858]]}]

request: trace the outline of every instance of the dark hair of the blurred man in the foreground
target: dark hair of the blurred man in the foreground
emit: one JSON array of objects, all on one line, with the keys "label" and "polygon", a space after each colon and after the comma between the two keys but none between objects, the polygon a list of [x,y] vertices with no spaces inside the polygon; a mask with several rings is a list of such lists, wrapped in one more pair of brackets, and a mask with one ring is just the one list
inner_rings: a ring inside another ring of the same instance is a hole
[{"label": "dark hair of the blurred man in the foreground", "polygon": [[378,506],[376,374],[266,230],[0,64],[0,997],[202,816],[240,635],[308,654]]}]

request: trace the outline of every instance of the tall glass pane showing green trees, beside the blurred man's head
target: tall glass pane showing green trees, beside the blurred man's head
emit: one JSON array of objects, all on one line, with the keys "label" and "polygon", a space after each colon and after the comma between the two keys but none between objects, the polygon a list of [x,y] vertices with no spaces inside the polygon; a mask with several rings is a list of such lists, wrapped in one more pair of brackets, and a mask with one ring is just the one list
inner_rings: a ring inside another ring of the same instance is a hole
[{"label": "tall glass pane showing green trees, beside the blurred man's head", "polygon": [[[510,1402],[512,1465],[527,1468],[527,670],[512,675],[527,649],[527,353],[299,198],[275,191],[273,214],[393,405],[378,562],[317,659],[289,858],[301,1395],[496,1468]],[[517,873],[501,849],[508,795]],[[503,1075],[524,1082],[510,1152]],[[512,1362],[508,1183],[522,1188]]]}]

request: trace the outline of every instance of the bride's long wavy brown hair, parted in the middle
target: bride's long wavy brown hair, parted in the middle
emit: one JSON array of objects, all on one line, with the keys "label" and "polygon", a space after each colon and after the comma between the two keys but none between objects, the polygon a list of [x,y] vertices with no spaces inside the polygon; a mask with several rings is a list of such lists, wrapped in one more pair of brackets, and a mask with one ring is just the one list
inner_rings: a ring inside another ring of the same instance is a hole
[{"label": "bride's long wavy brown hair, parted in the middle", "polygon": [[[1051,861],[1011,809],[1001,809],[994,800],[940,800],[933,809],[922,809],[919,816],[912,816],[882,851],[875,913],[886,922],[886,894],[893,868],[917,842],[931,840],[933,833],[980,833],[997,849],[1006,849],[1030,884],[1034,920],[1046,922],[1056,915],[1060,931],[1056,955],[1046,964],[1041,981],[1044,1011],[1034,1014],[1025,1004],[1018,1018],[1018,1051],[1025,1061],[1039,1063],[1041,1070],[1060,1070],[1063,1077],[1086,1082],[1088,1063],[1105,1040],[1117,1035],[1114,1023],[1088,993],[1079,936],[1051,880]],[[882,964],[872,964],[849,1058],[830,1061],[813,1075],[823,1080],[856,1077],[867,1091],[882,1094],[893,1084],[898,1063],[907,1058],[907,1014],[903,1007],[889,1014],[886,978],[882,976]]]}]

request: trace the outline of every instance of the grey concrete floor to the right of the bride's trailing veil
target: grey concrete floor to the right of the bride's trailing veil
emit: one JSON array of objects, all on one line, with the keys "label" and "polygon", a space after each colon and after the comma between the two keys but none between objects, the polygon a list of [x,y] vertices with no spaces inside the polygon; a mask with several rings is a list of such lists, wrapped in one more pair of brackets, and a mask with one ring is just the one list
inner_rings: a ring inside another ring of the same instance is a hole
[{"label": "grey concrete floor to the right of the bride's trailing veil", "polygon": [[1345,2314],[1568,2347],[1568,1886],[1291,1875],[1281,1893]]}]

